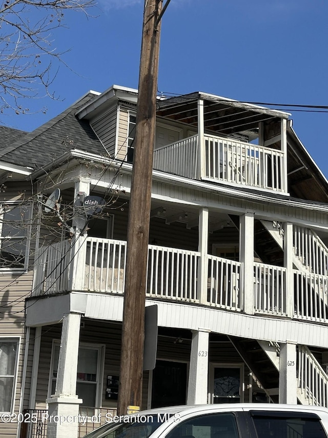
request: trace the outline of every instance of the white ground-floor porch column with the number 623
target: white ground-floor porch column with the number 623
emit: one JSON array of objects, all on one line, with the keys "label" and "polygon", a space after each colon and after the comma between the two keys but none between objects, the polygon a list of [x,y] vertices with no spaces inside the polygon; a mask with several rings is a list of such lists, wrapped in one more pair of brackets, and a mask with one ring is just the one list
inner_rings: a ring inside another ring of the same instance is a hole
[{"label": "white ground-floor porch column with the number 623", "polygon": [[209,332],[198,329],[191,341],[187,405],[207,404],[209,374]]}]

